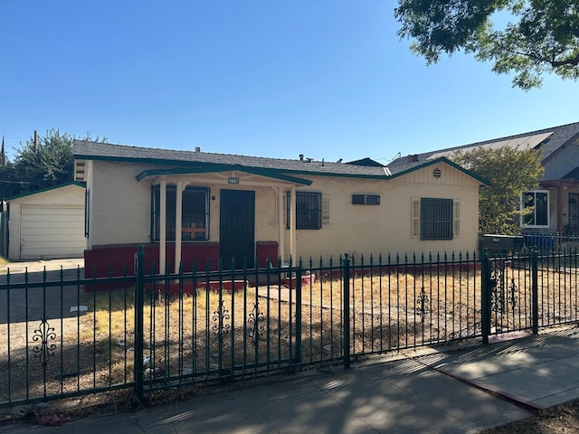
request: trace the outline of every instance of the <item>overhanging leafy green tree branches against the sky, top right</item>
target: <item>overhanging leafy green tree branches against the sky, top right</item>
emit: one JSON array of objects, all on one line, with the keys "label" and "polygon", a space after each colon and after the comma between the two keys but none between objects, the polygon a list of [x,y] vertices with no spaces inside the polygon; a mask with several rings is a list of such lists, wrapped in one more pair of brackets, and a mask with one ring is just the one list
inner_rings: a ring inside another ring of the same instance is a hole
[{"label": "overhanging leafy green tree branches against the sky, top right", "polygon": [[515,73],[528,90],[553,72],[579,78],[579,3],[576,0],[398,0],[398,34],[431,64],[460,50]]}]

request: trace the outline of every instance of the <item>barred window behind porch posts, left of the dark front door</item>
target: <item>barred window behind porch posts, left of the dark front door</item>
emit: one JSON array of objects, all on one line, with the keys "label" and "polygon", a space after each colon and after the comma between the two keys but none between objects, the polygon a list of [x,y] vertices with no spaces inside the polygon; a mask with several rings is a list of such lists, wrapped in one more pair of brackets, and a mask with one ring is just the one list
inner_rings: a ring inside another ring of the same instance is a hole
[{"label": "barred window behind porch posts, left of the dark front door", "polygon": [[[206,241],[209,239],[209,189],[185,187],[183,191],[182,241]],[[151,189],[151,239],[159,241],[161,188]],[[175,241],[176,186],[166,186],[166,241]]]}]

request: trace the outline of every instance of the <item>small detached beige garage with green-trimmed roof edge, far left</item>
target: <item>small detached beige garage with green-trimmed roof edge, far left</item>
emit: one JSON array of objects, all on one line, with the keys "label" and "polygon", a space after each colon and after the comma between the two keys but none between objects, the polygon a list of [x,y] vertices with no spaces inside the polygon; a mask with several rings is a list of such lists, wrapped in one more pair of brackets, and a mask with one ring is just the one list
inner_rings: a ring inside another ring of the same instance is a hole
[{"label": "small detached beige garage with green-trimmed roof edge, far left", "polygon": [[8,202],[8,259],[81,258],[86,188],[71,183]]}]

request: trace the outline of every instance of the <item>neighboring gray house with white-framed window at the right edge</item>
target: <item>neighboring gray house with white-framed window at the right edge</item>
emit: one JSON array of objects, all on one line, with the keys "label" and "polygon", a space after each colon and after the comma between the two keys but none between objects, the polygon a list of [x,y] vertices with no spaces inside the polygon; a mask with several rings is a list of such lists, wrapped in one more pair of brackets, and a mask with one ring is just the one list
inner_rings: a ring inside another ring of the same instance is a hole
[{"label": "neighboring gray house with white-framed window at the right edge", "polygon": [[521,226],[532,232],[579,234],[579,122],[405,156],[394,160],[388,168],[392,172],[412,170],[441,156],[450,156],[458,149],[477,146],[513,146],[541,152],[545,173],[536,191],[522,192],[521,206],[533,207],[533,212]]}]

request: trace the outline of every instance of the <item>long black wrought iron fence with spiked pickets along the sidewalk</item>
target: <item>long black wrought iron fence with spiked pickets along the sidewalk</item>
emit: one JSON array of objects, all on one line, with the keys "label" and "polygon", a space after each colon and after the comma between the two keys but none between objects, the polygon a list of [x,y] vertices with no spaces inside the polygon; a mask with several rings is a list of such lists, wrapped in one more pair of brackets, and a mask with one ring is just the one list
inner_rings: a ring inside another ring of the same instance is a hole
[{"label": "long black wrought iron fence with spiked pickets along the sidewalk", "polygon": [[117,389],[145,399],[578,319],[569,251],[344,255],[147,275],[142,251],[136,259],[135,276],[5,276],[0,405]]}]

